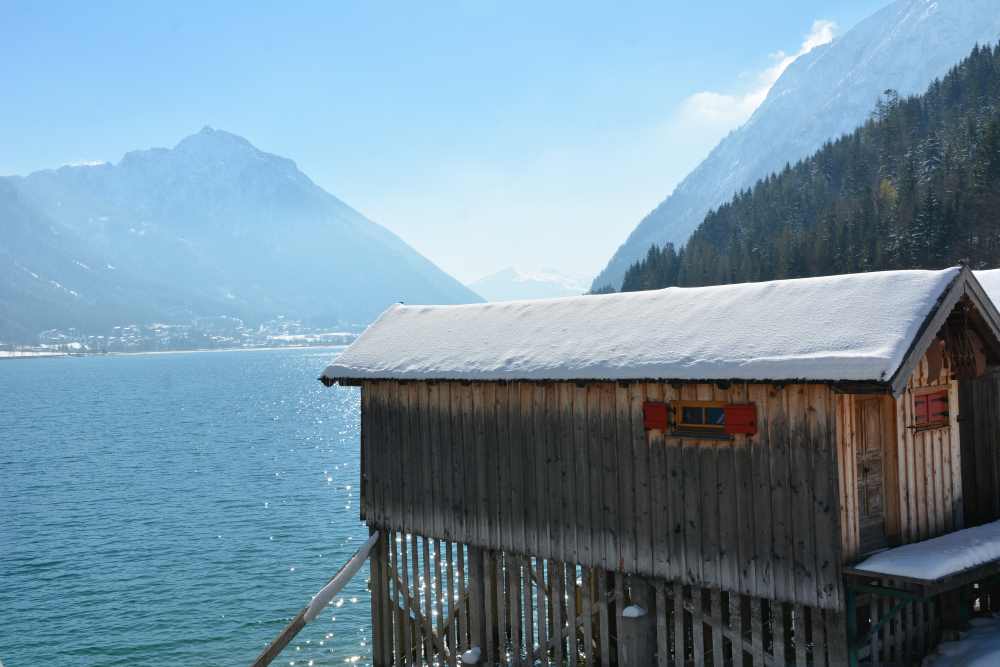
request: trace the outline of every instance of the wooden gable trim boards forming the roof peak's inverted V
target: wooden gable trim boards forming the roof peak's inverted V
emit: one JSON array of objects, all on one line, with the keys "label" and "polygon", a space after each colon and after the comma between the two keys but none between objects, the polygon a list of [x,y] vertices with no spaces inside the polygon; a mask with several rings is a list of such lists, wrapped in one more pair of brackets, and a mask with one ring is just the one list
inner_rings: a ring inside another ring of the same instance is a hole
[{"label": "wooden gable trim boards forming the roof peak's inverted V", "polygon": [[958,276],[955,277],[951,285],[944,291],[937,305],[931,310],[927,319],[921,325],[920,332],[910,345],[910,349],[907,350],[906,356],[903,357],[903,363],[899,365],[899,368],[893,374],[890,380],[893,396],[898,398],[906,391],[906,384],[914,370],[916,370],[917,364],[920,363],[927,349],[934,342],[934,339],[937,338],[941,327],[948,321],[951,312],[963,297],[967,297],[972,302],[972,305],[982,315],[983,320],[990,330],[991,336],[988,338],[992,340],[985,342],[995,350],[1000,351],[1000,312],[997,311],[996,306],[986,296],[985,290],[983,290],[979,281],[976,280],[972,270],[967,266],[963,266]]}]

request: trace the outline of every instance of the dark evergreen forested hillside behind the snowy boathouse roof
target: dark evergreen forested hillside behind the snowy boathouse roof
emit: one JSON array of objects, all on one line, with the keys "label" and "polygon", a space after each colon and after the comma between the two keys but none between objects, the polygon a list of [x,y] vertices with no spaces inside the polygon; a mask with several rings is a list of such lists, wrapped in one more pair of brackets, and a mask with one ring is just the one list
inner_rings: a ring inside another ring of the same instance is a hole
[{"label": "dark evergreen forested hillside behind the snowy boathouse roof", "polygon": [[650,248],[623,290],[969,259],[1000,265],[1000,46],[710,212],[677,250]]}]

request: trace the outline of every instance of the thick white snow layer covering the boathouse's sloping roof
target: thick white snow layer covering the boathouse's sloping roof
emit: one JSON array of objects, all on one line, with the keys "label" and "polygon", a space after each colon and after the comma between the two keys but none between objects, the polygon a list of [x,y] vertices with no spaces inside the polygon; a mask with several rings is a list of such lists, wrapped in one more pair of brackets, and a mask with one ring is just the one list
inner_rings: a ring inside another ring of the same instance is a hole
[{"label": "thick white snow layer covering the boathouse's sloping roof", "polygon": [[388,309],[330,379],[887,381],[958,276],[885,271]]}]

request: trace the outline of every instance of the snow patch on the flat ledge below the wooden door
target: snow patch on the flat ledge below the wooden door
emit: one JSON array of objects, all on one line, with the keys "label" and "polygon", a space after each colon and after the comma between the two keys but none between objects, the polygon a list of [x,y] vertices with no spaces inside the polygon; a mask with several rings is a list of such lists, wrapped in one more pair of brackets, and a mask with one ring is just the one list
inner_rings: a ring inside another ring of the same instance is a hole
[{"label": "snow patch on the flat ledge below the wooden door", "polygon": [[933,581],[997,559],[1000,521],[881,551],[854,569]]}]

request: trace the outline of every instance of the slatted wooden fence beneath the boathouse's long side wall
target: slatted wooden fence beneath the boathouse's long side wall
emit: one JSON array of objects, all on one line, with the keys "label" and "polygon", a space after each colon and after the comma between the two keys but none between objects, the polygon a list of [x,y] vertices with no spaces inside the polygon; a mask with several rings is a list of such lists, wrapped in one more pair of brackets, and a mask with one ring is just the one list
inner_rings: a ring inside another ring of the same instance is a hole
[{"label": "slatted wooden fence beneath the boathouse's long side wall", "polygon": [[[640,663],[846,663],[839,612],[386,531],[372,552],[374,664],[616,665],[641,600],[655,642]],[[652,636],[652,635],[651,635]],[[634,639],[631,639],[634,641]]]}]

